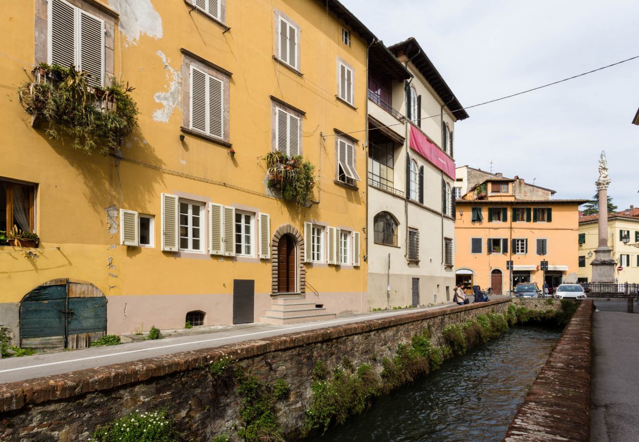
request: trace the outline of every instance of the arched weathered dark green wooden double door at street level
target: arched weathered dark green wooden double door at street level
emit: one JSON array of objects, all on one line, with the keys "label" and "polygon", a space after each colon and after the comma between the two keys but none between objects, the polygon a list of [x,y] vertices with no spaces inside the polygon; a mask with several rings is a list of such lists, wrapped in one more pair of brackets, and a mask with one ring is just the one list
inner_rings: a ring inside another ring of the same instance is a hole
[{"label": "arched weathered dark green wooden double door at street level", "polygon": [[20,347],[84,348],[107,332],[107,299],[84,281],[54,279],[20,302]]}]

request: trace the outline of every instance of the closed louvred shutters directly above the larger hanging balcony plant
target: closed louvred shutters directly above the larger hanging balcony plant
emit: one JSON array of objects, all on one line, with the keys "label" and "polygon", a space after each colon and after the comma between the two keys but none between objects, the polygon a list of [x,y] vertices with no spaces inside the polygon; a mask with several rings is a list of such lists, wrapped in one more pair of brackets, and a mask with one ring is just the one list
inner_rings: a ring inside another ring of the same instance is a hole
[{"label": "closed louvred shutters directly above the larger hanging balcony plant", "polygon": [[104,84],[104,20],[65,0],[49,1],[49,64],[89,73],[91,86]]}]

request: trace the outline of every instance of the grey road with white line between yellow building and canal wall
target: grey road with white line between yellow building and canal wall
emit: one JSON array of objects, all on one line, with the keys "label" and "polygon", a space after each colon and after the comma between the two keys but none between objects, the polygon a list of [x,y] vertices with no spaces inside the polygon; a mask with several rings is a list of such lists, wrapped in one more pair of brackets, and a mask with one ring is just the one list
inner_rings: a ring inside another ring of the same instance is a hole
[{"label": "grey road with white line between yellow building and canal wall", "polygon": [[[505,298],[505,296],[491,296],[491,300]],[[286,333],[296,333],[304,330],[314,330],[327,326],[366,321],[380,317],[396,316],[408,312],[443,309],[453,303],[424,307],[420,309],[392,310],[390,312],[374,312],[339,316],[332,321],[317,321],[314,323],[292,325],[270,325],[262,323],[242,324],[236,326],[222,326],[208,330],[204,334],[167,337],[162,340],[145,340],[129,342],[119,346],[92,347],[74,351],[58,353],[44,353],[22,358],[0,359],[0,384],[13,381],[24,381],[41,376],[63,374],[74,370],[84,370],[92,367],[102,367],[112,363],[130,362],[143,358],[153,358],[163,354],[178,351],[197,350],[234,344],[250,339],[263,339]]]}]

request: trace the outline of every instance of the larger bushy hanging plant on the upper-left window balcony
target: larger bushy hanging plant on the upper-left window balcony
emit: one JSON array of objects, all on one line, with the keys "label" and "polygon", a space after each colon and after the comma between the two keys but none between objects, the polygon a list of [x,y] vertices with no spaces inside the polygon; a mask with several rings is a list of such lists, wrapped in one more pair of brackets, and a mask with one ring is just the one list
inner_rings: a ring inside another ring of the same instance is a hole
[{"label": "larger bushy hanging plant on the upper-left window balcony", "polygon": [[107,155],[133,131],[138,110],[128,83],[112,77],[109,87],[91,86],[89,73],[75,66],[40,63],[31,73],[33,81],[18,89],[20,104],[36,120],[47,121],[50,139],[66,135],[74,149]]}]

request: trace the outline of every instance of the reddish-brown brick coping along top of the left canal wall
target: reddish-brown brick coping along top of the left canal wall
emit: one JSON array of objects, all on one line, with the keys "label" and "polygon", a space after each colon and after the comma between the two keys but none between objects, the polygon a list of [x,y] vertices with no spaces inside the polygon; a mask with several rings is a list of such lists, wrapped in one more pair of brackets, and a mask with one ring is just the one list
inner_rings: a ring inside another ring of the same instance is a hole
[{"label": "reddish-brown brick coping along top of the left canal wall", "polygon": [[458,314],[466,310],[479,309],[510,301],[510,299],[505,298],[482,302],[477,305],[471,303],[447,309],[426,310],[381,319],[369,319],[358,323],[289,333],[265,339],[247,340],[221,347],[165,354],[156,358],[146,358],[134,362],[78,370],[62,375],[12,382],[0,385],[0,413],[17,410],[30,404],[42,404],[50,400],[68,399],[90,392],[109,390],[131,383],[147,381],[152,377],[194,370],[204,367],[204,365],[208,365],[223,356],[231,356],[236,360],[242,360],[273,351],[306,346],[348,335],[367,333],[422,321],[431,317]]}]

